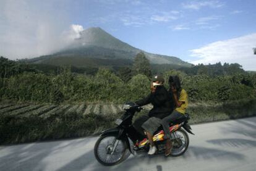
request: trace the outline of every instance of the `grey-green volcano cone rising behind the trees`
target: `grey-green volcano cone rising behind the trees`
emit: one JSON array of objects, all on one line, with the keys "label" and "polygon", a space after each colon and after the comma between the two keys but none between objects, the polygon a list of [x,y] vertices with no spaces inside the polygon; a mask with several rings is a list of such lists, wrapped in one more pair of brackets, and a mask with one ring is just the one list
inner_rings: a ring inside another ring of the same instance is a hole
[{"label": "grey-green volcano cone rising behind the trees", "polygon": [[[41,56],[30,59],[29,62],[51,65],[75,64],[77,67],[87,67],[87,65],[90,65],[90,61],[93,58],[117,61],[120,61],[121,59],[133,60],[136,54],[140,51],[142,50],[134,48],[133,46],[114,38],[114,36],[109,35],[109,33],[101,28],[92,27],[88,28],[87,30],[83,30],[80,33],[80,38],[74,40],[74,43],[70,44],[67,49],[56,52],[55,54],[49,56]],[[151,54],[145,51],[143,52],[150,60],[151,64],[174,64],[181,67],[191,66],[191,64],[184,62],[177,57]],[[66,60],[67,58],[69,60]],[[63,60],[61,61],[61,59]],[[77,61],[72,61],[70,64],[70,60],[72,59]],[[114,62],[114,64],[116,63],[118,64],[118,62]]]}]

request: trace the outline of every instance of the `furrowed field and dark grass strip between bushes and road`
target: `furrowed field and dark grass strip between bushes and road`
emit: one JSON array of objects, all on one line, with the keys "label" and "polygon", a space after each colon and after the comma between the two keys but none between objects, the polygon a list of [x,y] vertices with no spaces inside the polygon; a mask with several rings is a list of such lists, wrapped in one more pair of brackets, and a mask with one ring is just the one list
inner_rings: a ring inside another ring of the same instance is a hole
[{"label": "furrowed field and dark grass strip between bushes and road", "polygon": [[[12,103],[13,104],[13,103]],[[58,140],[95,135],[115,127],[114,120],[124,113],[120,104],[0,104],[0,144]],[[33,111],[33,109],[35,109]],[[88,110],[87,110],[88,109]],[[150,106],[135,114],[147,114]],[[239,119],[256,115],[256,99],[228,102],[191,103],[189,123]]]}]

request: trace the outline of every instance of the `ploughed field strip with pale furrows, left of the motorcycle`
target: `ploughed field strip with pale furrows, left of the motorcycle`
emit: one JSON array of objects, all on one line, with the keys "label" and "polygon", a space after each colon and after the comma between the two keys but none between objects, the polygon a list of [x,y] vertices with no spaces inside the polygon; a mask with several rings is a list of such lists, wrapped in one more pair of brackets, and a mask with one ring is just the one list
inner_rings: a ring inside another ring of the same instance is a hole
[{"label": "ploughed field strip with pale furrows, left of the motorcycle", "polygon": [[[151,109],[146,106],[145,109]],[[42,118],[50,117],[53,114],[88,115],[113,115],[122,112],[122,104],[75,104],[75,105],[33,105],[33,104],[1,104],[1,115],[12,115],[15,117],[38,116]]]}]

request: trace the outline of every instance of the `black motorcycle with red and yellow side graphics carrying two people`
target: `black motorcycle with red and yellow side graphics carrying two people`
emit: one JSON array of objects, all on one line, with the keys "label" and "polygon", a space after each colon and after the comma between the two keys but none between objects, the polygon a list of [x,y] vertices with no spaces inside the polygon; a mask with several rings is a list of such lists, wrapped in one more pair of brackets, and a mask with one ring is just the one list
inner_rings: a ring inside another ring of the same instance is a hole
[{"label": "black motorcycle with red and yellow side graphics carrying two people", "polygon": [[[127,103],[123,109],[126,111],[120,119],[116,120],[116,128],[111,128],[101,132],[100,138],[96,141],[94,154],[98,162],[110,166],[119,164],[129,157],[130,153],[148,152],[149,141],[142,136],[132,126],[132,118],[135,112],[140,112],[143,108],[133,103]],[[181,156],[189,147],[189,136],[192,133],[188,124],[189,114],[185,114],[184,119],[170,123],[169,130],[172,134],[173,149],[171,156]],[[187,132],[186,132],[187,131]],[[153,141],[158,149],[157,154],[163,154],[165,149],[164,131],[158,129],[153,135]]]}]

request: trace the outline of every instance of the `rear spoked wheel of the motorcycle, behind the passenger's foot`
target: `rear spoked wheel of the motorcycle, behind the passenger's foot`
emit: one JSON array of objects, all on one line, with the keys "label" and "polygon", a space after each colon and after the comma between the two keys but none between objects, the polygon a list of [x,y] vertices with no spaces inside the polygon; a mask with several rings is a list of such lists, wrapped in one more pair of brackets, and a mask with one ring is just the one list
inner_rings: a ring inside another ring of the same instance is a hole
[{"label": "rear spoked wheel of the motorcycle, behind the passenger's foot", "polygon": [[186,131],[182,128],[174,132],[176,138],[173,141],[173,149],[171,151],[171,156],[181,156],[187,151],[189,147],[189,136]]}]

